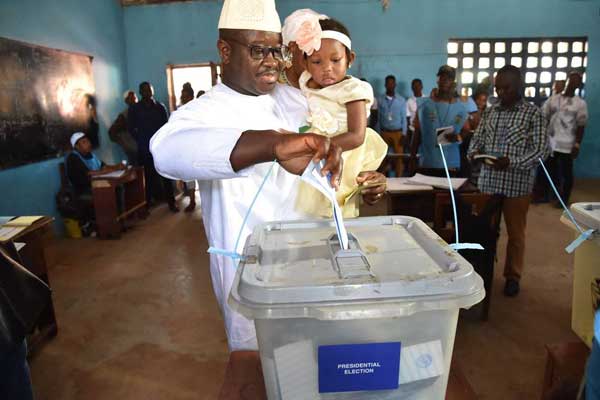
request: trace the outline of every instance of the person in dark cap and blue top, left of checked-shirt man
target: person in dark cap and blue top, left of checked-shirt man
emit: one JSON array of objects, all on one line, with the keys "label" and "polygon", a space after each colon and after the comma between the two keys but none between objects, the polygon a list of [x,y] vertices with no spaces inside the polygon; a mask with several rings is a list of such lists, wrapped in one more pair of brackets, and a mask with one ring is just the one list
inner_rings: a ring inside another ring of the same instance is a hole
[{"label": "person in dark cap and blue top, left of checked-shirt man", "polygon": [[467,108],[455,96],[456,70],[443,65],[438,70],[438,87],[432,97],[418,108],[414,120],[415,133],[411,145],[410,169],[416,167],[417,149],[421,154],[419,170],[425,175],[444,176],[442,145],[448,168],[456,173],[460,168],[460,141],[468,119]]}]

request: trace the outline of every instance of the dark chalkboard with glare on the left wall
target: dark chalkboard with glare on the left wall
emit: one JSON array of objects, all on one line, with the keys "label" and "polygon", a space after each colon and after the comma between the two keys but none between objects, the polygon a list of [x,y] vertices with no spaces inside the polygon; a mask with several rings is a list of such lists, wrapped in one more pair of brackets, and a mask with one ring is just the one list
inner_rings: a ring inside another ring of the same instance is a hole
[{"label": "dark chalkboard with glare on the left wall", "polygon": [[98,145],[92,57],[0,38],[0,169],[60,157],[73,132]]}]

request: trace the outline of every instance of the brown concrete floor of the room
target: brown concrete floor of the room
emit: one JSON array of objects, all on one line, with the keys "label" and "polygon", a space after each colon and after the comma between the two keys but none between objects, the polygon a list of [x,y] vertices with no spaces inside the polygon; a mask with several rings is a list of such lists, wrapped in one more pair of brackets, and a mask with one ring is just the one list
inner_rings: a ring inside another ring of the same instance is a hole
[{"label": "brown concrete floor of the room", "polygon": [[[600,199],[580,181],[573,201]],[[570,329],[573,238],[560,210],[532,206],[522,293],[501,294],[502,236],[490,320],[461,319],[455,357],[480,399],[536,399],[544,344]],[[31,360],[37,399],[215,399],[227,361],[200,212],[166,207],[120,240],[54,239],[48,249],[58,336]]]}]

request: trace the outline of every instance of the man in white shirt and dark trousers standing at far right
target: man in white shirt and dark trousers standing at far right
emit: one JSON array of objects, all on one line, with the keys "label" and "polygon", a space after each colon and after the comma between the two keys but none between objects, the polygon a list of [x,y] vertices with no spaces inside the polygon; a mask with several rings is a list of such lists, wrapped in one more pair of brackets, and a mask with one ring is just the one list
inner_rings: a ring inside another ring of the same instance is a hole
[{"label": "man in white shirt and dark trousers standing at far right", "polygon": [[[585,100],[575,95],[575,91],[581,86],[581,73],[572,72],[569,74],[565,90],[550,97],[542,106],[552,148],[550,174],[565,203],[568,203],[571,197],[573,161],[579,155],[588,119]],[[557,202],[556,205],[558,207],[560,203]]]}]

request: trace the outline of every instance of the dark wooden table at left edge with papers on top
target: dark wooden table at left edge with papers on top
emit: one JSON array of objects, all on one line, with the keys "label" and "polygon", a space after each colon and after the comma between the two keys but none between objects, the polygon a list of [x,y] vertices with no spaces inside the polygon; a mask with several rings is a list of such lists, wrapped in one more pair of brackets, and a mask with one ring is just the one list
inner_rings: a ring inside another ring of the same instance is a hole
[{"label": "dark wooden table at left edge with papers on top", "polygon": [[[53,221],[54,218],[43,217],[25,230],[19,232],[9,241],[12,243],[25,243],[25,247],[18,253],[23,262],[23,266],[43,280],[48,286],[50,286],[50,280],[48,278],[48,264],[45,255],[45,239],[52,231],[51,224]],[[35,351],[46,338],[52,338],[56,336],[57,333],[58,324],[56,323],[54,303],[51,295],[50,304],[48,304],[48,307],[41,313],[33,334],[28,337],[27,343],[30,352]]]}]

